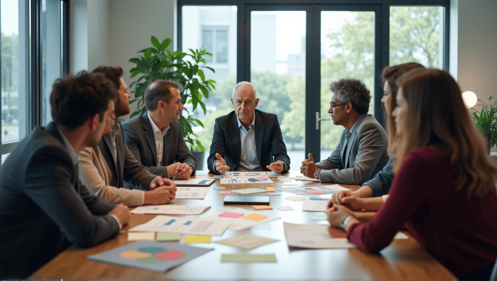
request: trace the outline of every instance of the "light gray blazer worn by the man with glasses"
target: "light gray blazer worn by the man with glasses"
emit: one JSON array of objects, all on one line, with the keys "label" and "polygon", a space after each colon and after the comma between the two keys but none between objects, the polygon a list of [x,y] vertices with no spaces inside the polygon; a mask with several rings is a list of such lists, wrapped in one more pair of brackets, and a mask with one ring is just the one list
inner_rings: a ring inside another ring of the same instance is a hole
[{"label": "light gray blazer worn by the man with glasses", "polygon": [[323,169],[321,182],[359,185],[372,179],[388,162],[388,137],[373,115],[361,114],[350,134],[346,151],[344,129],[330,157],[316,163]]}]

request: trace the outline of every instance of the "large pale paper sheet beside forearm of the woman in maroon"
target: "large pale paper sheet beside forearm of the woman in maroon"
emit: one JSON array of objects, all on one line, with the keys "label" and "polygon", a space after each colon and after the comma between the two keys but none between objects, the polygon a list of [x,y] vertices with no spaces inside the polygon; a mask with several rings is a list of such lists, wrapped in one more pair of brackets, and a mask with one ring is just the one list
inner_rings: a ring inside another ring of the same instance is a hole
[{"label": "large pale paper sheet beside forearm of the woman in maroon", "polygon": [[283,222],[288,246],[313,249],[356,247],[347,238],[331,238],[329,224],[295,224]]}]

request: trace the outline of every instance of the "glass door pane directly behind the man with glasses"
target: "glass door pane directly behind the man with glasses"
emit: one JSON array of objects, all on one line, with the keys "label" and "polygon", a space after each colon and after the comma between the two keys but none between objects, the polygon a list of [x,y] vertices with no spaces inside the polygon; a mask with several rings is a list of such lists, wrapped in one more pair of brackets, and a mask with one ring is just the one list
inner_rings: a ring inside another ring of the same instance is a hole
[{"label": "glass door pane directly behind the man with glasses", "polygon": [[[374,20],[372,11],[321,12],[321,118],[328,110],[330,84],[344,77],[361,79],[374,93]],[[373,114],[371,98],[369,114]],[[328,158],[340,141],[342,126],[321,122],[321,160]]]}]

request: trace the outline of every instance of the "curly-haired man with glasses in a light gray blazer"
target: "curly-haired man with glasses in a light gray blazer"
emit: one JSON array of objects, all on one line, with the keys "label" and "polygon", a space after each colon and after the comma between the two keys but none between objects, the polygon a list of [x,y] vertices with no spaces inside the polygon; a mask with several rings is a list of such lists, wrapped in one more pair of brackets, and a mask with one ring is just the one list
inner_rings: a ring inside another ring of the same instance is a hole
[{"label": "curly-haired man with glasses in a light gray blazer", "polygon": [[345,127],[328,159],[315,163],[312,154],[302,161],[301,172],[326,183],[362,184],[388,162],[388,138],[383,127],[368,115],[371,95],[358,79],[331,83],[330,109],[334,125]]}]

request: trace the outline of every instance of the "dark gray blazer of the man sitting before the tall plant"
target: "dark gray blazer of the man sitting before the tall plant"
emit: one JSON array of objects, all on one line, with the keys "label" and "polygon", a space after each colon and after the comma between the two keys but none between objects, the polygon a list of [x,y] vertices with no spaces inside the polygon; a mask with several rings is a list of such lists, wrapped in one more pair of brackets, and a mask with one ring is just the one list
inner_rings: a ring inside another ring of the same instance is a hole
[{"label": "dark gray blazer of the man sitting before the tall plant", "polygon": [[165,178],[169,177],[166,166],[174,162],[180,162],[192,166],[192,175],[194,175],[197,169],[197,160],[186,146],[181,132],[181,125],[175,121],[169,126],[169,130],[164,136],[163,166],[157,166],[157,147],[148,112],[123,123],[126,144],[135,158],[142,165],[148,167],[153,174]]}]

